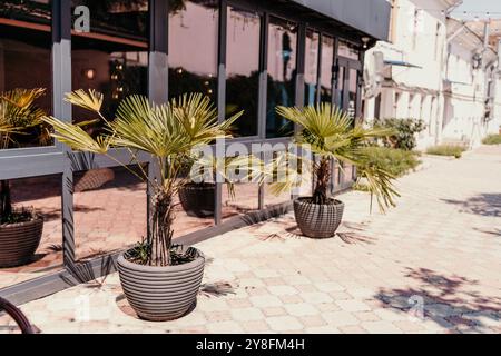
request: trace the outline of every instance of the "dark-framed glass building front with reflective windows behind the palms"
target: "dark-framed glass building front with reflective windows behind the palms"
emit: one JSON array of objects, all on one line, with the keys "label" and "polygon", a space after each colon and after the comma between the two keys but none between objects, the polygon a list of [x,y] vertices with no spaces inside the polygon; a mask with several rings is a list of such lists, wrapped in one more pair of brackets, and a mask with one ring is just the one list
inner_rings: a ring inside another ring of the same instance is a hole
[{"label": "dark-framed glass building front with reflective windows behind the palms", "polygon": [[[94,119],[63,100],[76,89],[102,92],[109,119],[129,95],[165,102],[204,92],[220,121],[245,110],[234,141],[272,147],[288,142],[294,131],[275,115],[278,105],[322,100],[361,115],[364,53],[387,38],[389,20],[385,0],[2,1],[0,92],[46,88],[38,106],[73,122]],[[137,243],[147,220],[147,187],[124,176],[114,159],[41,142],[36,134],[0,150],[0,179],[11,181],[13,202],[46,217],[39,259],[0,270],[0,296],[16,303],[109,273],[117,250]],[[130,159],[127,151],[111,154]],[[139,158],[149,169],[150,158]],[[334,189],[352,178],[348,168],[338,172]],[[277,204],[257,185],[239,186],[236,194],[238,201],[228,205],[218,185],[208,219],[179,211],[177,241],[193,244],[245,225],[250,212],[269,212]]]}]

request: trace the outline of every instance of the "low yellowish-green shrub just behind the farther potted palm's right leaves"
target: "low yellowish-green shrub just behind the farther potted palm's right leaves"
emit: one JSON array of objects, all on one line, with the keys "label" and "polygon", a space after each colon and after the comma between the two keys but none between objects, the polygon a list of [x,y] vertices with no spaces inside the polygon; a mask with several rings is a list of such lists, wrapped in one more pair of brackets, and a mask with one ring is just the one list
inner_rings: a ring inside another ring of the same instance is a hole
[{"label": "low yellowish-green shrub just behind the farther potted palm's right leaves", "polygon": [[419,154],[389,147],[367,147],[369,164],[387,171],[394,177],[401,177],[415,169],[420,164]]}]

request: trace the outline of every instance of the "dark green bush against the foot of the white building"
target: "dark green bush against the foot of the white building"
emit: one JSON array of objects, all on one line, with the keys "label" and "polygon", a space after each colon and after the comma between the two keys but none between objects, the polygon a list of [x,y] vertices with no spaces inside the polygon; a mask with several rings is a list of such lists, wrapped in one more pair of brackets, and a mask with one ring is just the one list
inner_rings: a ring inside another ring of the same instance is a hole
[{"label": "dark green bush against the foot of the white building", "polygon": [[374,127],[391,129],[393,135],[383,139],[385,147],[413,150],[418,146],[415,135],[426,129],[423,120],[387,118],[375,122]]}]

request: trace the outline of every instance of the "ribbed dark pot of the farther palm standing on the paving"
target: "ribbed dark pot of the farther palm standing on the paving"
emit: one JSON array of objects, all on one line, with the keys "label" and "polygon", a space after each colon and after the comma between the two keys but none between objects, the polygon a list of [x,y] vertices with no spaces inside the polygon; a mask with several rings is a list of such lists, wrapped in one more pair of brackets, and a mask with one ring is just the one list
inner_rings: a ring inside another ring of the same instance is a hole
[{"label": "ribbed dark pot of the farther palm standing on the paving", "polygon": [[303,235],[313,238],[328,238],[336,234],[343,218],[344,204],[317,205],[311,198],[294,200],[294,215]]}]

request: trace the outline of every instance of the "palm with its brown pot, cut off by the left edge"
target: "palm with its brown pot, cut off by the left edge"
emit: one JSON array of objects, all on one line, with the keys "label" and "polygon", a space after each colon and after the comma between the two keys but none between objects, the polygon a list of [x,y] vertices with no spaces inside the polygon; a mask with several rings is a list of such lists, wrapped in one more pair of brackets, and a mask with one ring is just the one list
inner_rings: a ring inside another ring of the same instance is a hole
[{"label": "palm with its brown pot, cut off by the left edge", "polygon": [[[43,110],[35,101],[45,89],[14,89],[0,93],[0,149],[14,148],[27,130],[40,127]],[[40,134],[40,132],[39,132]],[[43,144],[47,136],[37,135]],[[32,209],[14,209],[9,180],[0,181],[0,268],[27,264],[37,250],[43,219]]]}]

